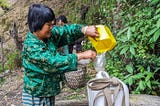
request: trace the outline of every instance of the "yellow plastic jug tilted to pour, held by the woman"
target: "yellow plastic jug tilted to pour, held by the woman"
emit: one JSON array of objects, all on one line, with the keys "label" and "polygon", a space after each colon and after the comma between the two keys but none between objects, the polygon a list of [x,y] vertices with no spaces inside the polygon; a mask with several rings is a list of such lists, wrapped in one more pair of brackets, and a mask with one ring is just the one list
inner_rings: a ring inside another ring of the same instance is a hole
[{"label": "yellow plastic jug tilted to pour, held by the woman", "polygon": [[104,53],[113,49],[116,45],[116,40],[112,35],[110,29],[104,25],[97,25],[99,37],[88,37],[97,53]]}]

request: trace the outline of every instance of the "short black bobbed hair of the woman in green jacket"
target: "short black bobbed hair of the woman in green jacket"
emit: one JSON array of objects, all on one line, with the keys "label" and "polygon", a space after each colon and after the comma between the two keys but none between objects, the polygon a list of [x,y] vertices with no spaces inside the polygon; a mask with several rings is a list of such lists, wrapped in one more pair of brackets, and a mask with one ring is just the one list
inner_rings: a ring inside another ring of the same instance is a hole
[{"label": "short black bobbed hair of the woman in green jacket", "polygon": [[33,4],[29,7],[27,22],[32,33],[41,30],[46,22],[53,20],[55,20],[55,14],[48,6]]}]

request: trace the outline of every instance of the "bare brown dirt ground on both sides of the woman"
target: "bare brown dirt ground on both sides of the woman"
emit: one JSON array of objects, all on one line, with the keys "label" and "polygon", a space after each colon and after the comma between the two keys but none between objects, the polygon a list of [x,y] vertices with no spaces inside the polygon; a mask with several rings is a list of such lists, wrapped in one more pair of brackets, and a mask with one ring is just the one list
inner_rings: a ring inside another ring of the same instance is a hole
[{"label": "bare brown dirt ground on both sides of the woman", "polygon": [[[91,72],[91,70],[89,71]],[[87,73],[91,74],[90,72]],[[23,71],[21,69],[15,70],[3,78],[0,77],[0,106],[20,106],[22,102],[22,88]],[[86,86],[71,89],[67,85],[64,85],[61,93],[56,96],[56,101],[75,99],[80,101],[87,99]]]}]

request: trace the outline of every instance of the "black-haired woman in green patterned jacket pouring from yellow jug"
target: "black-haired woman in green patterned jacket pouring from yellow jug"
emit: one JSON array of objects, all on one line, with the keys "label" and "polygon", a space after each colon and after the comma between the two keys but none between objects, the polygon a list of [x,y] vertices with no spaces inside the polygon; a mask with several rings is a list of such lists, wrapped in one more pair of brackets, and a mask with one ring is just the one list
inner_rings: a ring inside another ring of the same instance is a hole
[{"label": "black-haired woman in green patterned jacket pouring from yellow jug", "polygon": [[71,24],[53,26],[55,14],[43,4],[29,7],[27,16],[29,32],[23,43],[22,62],[24,106],[55,106],[55,96],[60,93],[60,74],[76,71],[81,59],[94,59],[96,52],[61,55],[57,49],[83,36],[98,37],[94,25]]}]

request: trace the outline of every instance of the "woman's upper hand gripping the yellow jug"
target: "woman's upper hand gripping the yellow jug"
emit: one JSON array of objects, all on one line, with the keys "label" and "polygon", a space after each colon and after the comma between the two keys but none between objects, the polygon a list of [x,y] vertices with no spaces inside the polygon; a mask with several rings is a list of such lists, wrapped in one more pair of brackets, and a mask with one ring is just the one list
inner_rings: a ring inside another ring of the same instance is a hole
[{"label": "woman's upper hand gripping the yellow jug", "polygon": [[87,36],[98,37],[98,31],[95,25],[83,27],[82,32]]}]

